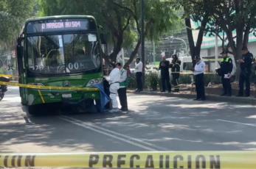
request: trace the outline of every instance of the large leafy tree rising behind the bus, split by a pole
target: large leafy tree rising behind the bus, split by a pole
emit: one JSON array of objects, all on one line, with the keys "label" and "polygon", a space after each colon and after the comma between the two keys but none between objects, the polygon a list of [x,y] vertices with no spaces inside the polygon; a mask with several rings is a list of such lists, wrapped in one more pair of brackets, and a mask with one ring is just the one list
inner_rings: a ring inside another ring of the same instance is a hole
[{"label": "large leafy tree rising behind the bus, split by a pole", "polygon": [[[123,46],[133,48],[130,60],[134,60],[141,43],[140,0],[41,0],[41,15],[93,15],[108,35],[111,53],[105,56],[115,62]],[[145,35],[156,39],[176,19],[170,3],[148,0],[145,3]],[[136,45],[134,46],[134,43]]]}]

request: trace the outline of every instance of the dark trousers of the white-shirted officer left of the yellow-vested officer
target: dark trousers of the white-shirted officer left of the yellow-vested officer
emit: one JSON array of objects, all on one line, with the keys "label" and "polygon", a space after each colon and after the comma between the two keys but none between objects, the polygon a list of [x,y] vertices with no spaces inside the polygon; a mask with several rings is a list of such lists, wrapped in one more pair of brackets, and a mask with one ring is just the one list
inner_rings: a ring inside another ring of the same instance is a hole
[{"label": "dark trousers of the white-shirted officer left of the yellow-vested officer", "polygon": [[195,75],[195,82],[196,82],[196,98],[205,99],[204,93],[204,73],[200,73]]}]

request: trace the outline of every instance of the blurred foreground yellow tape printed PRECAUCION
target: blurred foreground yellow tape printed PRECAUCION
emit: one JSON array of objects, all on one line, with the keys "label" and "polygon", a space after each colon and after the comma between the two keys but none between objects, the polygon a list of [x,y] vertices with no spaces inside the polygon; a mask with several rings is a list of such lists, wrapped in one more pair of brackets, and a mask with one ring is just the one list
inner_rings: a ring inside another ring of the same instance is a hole
[{"label": "blurred foreground yellow tape printed PRECAUCION", "polygon": [[255,169],[255,151],[95,152],[0,154],[0,168],[187,168]]}]

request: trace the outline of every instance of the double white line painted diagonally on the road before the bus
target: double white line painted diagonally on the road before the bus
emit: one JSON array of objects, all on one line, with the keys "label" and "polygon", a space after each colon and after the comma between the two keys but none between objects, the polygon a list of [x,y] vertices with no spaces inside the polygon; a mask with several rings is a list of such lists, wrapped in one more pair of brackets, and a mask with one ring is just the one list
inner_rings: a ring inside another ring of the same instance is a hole
[{"label": "double white line painted diagonally on the road before the bus", "polygon": [[161,148],[161,147],[158,147],[158,146],[153,145],[151,143],[146,143],[143,140],[139,140],[139,139],[134,138],[134,137],[129,137],[125,134],[120,134],[118,132],[114,132],[114,131],[111,131],[111,130],[108,130],[108,129],[104,129],[100,126],[94,125],[93,123],[80,121],[80,120],[77,120],[75,118],[70,118],[70,117],[64,116],[64,115],[60,116],[59,118],[62,119],[63,121],[68,121],[68,122],[73,123],[77,126],[82,126],[83,128],[91,129],[94,132],[97,132],[97,133],[100,133],[100,134],[105,134],[108,137],[112,137],[114,139],[121,140],[121,141],[123,141],[125,143],[129,143],[131,145],[135,145],[135,146],[137,146],[139,148],[143,148],[147,151],[159,151],[159,150],[164,151],[164,150],[166,150],[166,148]]}]

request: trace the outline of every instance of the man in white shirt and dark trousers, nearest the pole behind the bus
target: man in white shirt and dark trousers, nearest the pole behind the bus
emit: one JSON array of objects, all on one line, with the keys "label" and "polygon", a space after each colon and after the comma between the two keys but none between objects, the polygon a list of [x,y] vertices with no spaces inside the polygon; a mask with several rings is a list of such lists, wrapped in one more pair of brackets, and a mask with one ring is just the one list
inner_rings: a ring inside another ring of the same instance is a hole
[{"label": "man in white shirt and dark trousers, nearest the pole behind the bus", "polygon": [[136,92],[141,92],[143,90],[142,67],[143,67],[142,62],[140,61],[139,58],[136,58],[136,62],[135,62],[135,75],[136,75],[136,84],[137,84]]}]

